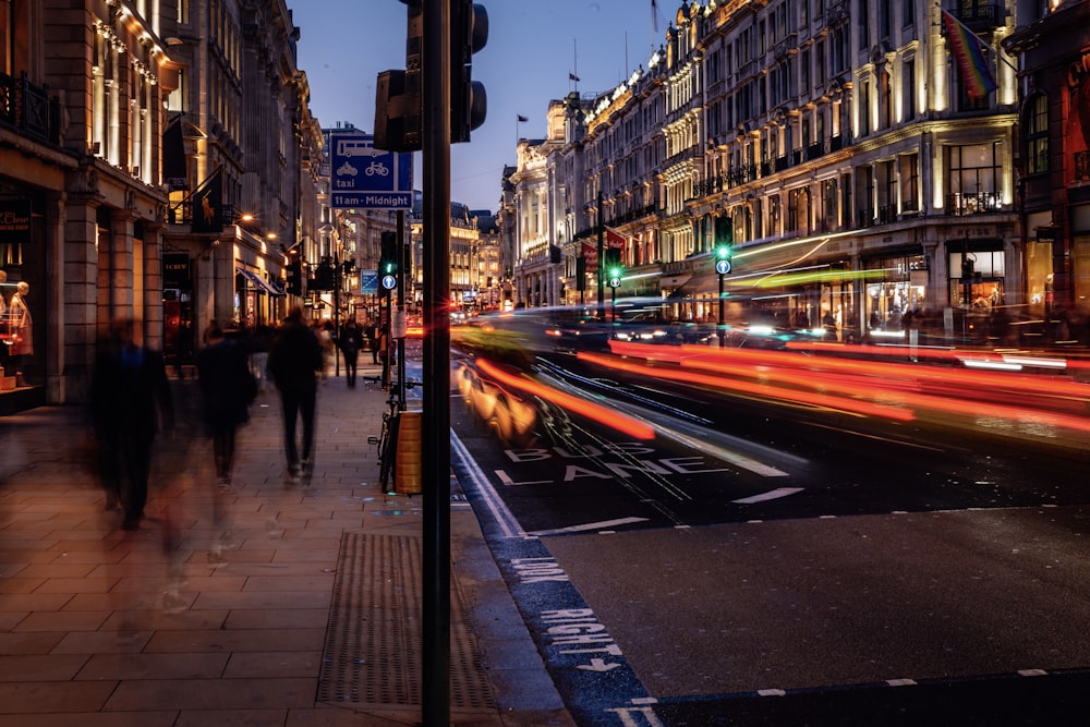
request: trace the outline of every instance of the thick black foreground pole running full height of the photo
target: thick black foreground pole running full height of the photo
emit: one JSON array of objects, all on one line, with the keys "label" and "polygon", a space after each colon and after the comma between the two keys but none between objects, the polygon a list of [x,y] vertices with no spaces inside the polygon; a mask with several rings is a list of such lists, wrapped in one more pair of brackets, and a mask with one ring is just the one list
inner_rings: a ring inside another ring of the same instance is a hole
[{"label": "thick black foreground pole running full height of the photo", "polygon": [[424,1],[422,718],[450,724],[450,0]]}]

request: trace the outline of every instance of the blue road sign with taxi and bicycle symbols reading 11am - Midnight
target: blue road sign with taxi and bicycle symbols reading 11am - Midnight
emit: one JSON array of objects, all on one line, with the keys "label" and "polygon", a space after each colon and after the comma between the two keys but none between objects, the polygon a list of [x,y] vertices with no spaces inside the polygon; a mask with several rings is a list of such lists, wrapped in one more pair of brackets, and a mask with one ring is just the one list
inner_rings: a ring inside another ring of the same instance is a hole
[{"label": "blue road sign with taxi and bicycle symbols reading 11am - Midnight", "polygon": [[376,149],[371,134],[334,134],[329,147],[334,207],[412,209],[412,154]]}]

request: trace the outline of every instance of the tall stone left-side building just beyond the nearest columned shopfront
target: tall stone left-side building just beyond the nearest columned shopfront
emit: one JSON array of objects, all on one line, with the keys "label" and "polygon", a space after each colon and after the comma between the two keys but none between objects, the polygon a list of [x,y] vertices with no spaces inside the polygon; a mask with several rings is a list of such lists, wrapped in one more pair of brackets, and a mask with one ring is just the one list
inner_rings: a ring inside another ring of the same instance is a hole
[{"label": "tall stone left-side building just beyond the nearest columned shopfront", "polygon": [[324,138],[283,0],[169,10],[179,81],[167,99],[165,347],[185,360],[210,320],[254,327],[286,313],[289,256],[319,257]]}]

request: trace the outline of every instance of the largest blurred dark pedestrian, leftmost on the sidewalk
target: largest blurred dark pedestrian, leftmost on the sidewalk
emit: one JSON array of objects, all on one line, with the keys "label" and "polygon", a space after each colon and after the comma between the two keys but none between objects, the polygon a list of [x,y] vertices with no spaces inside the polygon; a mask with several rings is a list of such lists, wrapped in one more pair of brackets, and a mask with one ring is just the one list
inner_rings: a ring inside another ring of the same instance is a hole
[{"label": "largest blurred dark pedestrian, leftmost on the sidewalk", "polygon": [[133,339],[133,322],[110,326],[96,353],[90,408],[107,509],[124,510],[124,530],[137,530],[147,504],[152,445],[174,424],[162,354]]}]

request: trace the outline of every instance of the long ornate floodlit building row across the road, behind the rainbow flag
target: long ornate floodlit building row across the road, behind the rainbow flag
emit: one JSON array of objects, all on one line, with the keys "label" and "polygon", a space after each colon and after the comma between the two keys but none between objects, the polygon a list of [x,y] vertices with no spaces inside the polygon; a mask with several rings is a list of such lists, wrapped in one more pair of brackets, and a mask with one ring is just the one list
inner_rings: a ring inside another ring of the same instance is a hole
[{"label": "long ornate floodlit building row across the road, behind the rainbow flag", "polygon": [[[995,87],[981,96],[967,93],[942,10],[986,49]],[[569,191],[556,211],[517,205],[516,278],[560,245],[568,259],[556,275],[577,300],[574,241],[593,240],[601,220],[625,238],[618,294],[668,299],[689,318],[717,307],[712,250],[723,238],[736,314],[813,325],[827,313],[841,340],[899,331],[908,312],[954,335],[973,303],[1028,305],[1018,85],[1001,44],[1013,11],[1013,1],[682,2],[646,69],[590,110],[568,105],[580,132],[534,145],[543,161],[511,177],[516,198],[548,202],[533,190],[550,175]],[[571,237],[528,227],[554,217]]]}]

